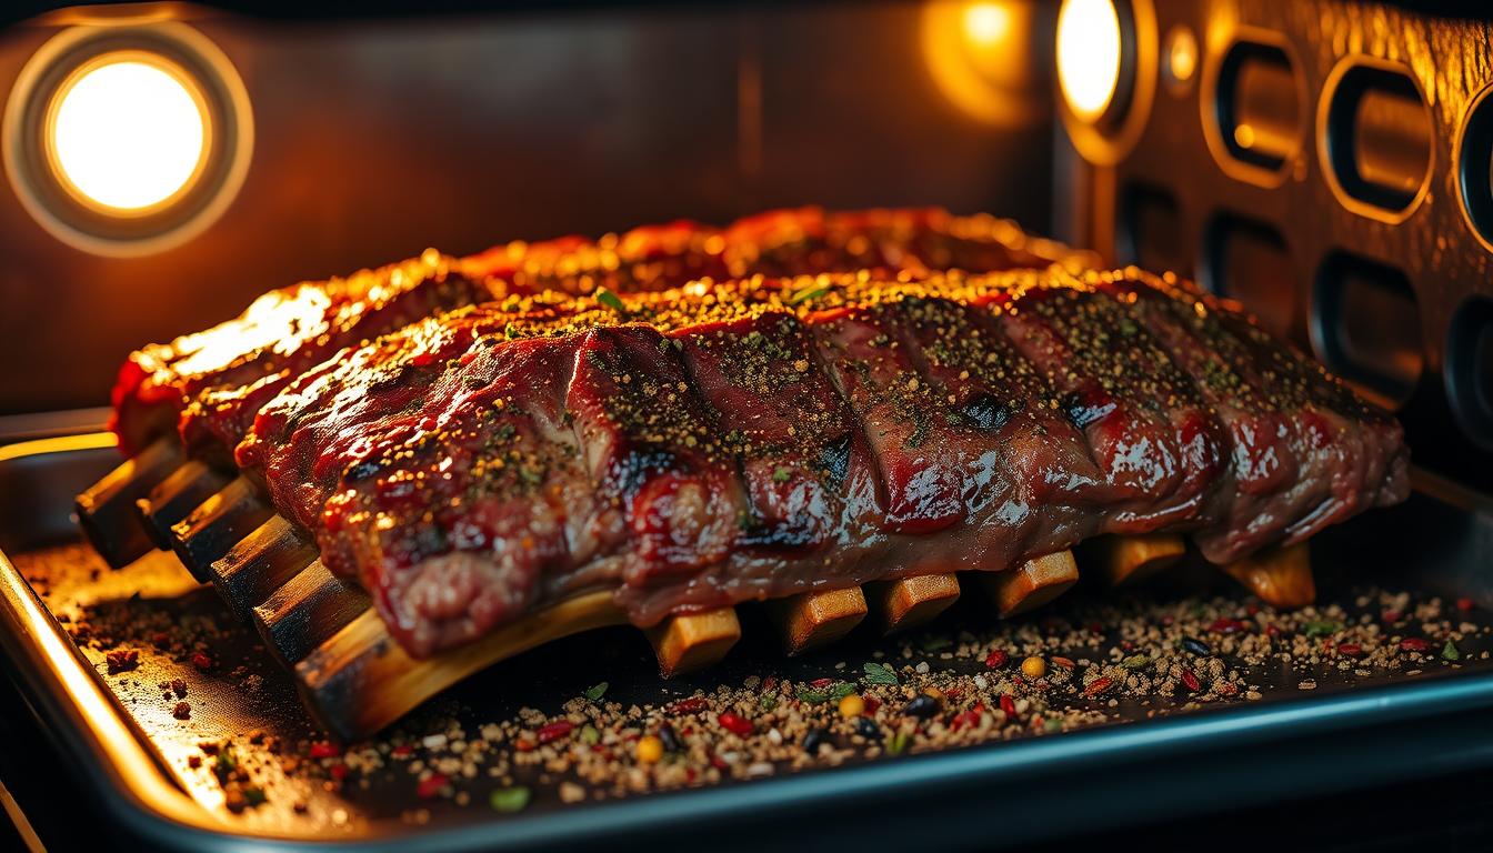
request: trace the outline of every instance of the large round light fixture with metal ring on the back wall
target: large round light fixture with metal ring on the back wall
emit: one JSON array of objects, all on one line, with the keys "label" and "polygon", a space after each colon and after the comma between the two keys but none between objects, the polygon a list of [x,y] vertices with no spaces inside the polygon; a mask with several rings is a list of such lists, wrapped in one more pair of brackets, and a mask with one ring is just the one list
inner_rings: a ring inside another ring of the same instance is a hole
[{"label": "large round light fixture with metal ring on the back wall", "polygon": [[211,226],[254,136],[227,57],[176,22],[64,30],[22,69],[3,133],[33,218],[105,255],[158,252]]}]

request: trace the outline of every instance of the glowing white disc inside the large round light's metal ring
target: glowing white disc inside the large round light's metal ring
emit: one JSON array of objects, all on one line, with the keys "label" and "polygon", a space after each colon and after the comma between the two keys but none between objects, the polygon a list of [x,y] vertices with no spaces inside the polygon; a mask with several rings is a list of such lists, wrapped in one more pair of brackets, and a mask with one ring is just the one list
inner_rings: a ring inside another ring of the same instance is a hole
[{"label": "glowing white disc inside the large round light's metal ring", "polygon": [[69,81],[48,133],[63,182],[119,212],[146,211],[179,194],[208,152],[208,121],[191,85],[133,58],[106,58]]}]

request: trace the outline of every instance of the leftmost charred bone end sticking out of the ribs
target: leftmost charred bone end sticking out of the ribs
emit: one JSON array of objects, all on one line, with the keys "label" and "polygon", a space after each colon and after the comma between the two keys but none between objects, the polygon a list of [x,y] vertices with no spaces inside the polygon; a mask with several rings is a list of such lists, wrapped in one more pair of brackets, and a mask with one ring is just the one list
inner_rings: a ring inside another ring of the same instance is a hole
[{"label": "leftmost charred bone end sticking out of the ribs", "polygon": [[75,508],[84,533],[109,566],[118,569],[154,548],[134,502],[149,494],[181,462],[176,436],[161,436],[78,496]]}]

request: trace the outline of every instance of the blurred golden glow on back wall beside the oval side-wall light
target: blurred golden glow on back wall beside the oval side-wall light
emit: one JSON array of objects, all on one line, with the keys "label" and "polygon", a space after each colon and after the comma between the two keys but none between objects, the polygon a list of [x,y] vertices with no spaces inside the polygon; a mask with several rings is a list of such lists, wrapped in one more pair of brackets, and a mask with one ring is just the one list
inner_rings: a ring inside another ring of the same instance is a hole
[{"label": "blurred golden glow on back wall beside the oval side-wall light", "polygon": [[960,111],[994,125],[1038,121],[1047,108],[1032,49],[1035,0],[933,0],[923,7],[923,57]]}]

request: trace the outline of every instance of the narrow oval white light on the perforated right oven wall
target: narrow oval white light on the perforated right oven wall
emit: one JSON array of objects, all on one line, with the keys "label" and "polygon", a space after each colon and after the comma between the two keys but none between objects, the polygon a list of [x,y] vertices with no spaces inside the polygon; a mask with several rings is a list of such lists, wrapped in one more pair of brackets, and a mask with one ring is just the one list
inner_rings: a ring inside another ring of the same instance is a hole
[{"label": "narrow oval white light on the perforated right oven wall", "polygon": [[1057,81],[1073,115],[1097,121],[1120,88],[1120,13],[1111,0],[1065,0],[1057,13]]}]

